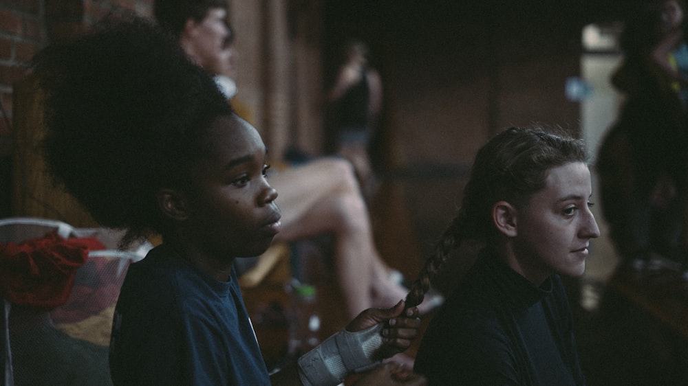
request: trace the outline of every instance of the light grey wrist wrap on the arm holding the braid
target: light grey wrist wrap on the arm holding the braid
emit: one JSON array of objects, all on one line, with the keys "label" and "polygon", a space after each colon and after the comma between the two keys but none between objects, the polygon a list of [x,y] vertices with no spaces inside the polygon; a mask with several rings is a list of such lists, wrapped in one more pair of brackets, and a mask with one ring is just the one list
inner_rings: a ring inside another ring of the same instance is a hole
[{"label": "light grey wrist wrap on the arm holding the braid", "polygon": [[377,365],[373,355],[383,343],[384,323],[362,331],[341,330],[299,358],[299,376],[305,386],[335,386],[347,374]]}]

